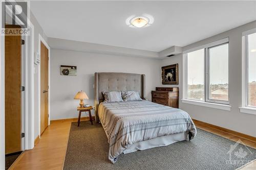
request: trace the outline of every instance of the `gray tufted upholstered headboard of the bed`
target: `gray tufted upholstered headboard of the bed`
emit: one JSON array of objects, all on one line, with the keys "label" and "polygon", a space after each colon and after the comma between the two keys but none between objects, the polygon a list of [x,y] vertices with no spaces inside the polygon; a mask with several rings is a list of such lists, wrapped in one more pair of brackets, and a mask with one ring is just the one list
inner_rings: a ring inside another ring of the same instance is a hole
[{"label": "gray tufted upholstered headboard of the bed", "polygon": [[104,101],[102,91],[129,91],[140,93],[141,99],[145,99],[145,75],[123,72],[95,72],[95,120],[99,122],[98,107]]}]

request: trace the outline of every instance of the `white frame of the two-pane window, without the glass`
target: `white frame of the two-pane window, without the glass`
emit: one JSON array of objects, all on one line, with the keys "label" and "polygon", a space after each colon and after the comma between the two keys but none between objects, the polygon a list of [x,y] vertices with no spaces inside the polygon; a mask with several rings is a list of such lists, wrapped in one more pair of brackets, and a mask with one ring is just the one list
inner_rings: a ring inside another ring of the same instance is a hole
[{"label": "white frame of the two-pane window, without the glass", "polygon": [[[228,44],[228,61],[229,61],[229,37],[198,46],[196,48],[192,48],[190,50],[184,51],[183,52],[183,103],[188,103],[188,104],[195,104],[195,105],[205,105],[207,107],[212,107],[212,108],[218,108],[218,109],[223,109],[223,110],[230,110],[229,106],[229,88],[228,88],[228,101],[221,101],[221,100],[212,100],[208,99],[209,97],[209,48],[220,46],[223,44]],[[196,99],[188,99],[187,98],[187,92],[188,92],[188,80],[187,80],[187,53],[194,52],[197,50],[204,49],[204,101],[196,100]],[[229,62],[228,62],[229,66]],[[228,76],[229,76],[229,71],[228,71]],[[228,82],[229,82],[229,77],[228,77]],[[210,106],[212,105],[212,106]],[[218,107],[216,107],[218,106]]]}]

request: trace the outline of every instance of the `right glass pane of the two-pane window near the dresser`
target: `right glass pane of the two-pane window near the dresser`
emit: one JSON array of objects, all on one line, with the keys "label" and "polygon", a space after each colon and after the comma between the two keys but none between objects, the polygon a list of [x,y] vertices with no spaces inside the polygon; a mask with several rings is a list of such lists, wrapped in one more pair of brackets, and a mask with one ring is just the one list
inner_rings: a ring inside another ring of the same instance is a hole
[{"label": "right glass pane of the two-pane window near the dresser", "polygon": [[209,55],[209,99],[228,101],[228,43],[211,47]]}]

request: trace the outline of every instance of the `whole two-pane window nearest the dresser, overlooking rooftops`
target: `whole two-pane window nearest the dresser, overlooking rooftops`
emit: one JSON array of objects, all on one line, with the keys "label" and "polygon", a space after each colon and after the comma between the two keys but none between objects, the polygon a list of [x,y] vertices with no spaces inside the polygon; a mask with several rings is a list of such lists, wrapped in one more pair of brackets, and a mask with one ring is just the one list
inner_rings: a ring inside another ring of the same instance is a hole
[{"label": "whole two-pane window nearest the dresser, overlooking rooftops", "polygon": [[186,99],[229,104],[228,38],[189,51],[184,57]]}]

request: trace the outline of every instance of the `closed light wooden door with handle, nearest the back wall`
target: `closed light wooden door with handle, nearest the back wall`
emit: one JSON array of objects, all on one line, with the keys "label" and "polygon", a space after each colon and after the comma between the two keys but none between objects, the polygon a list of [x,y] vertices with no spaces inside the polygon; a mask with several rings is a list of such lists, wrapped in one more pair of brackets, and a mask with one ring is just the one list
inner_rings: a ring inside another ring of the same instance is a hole
[{"label": "closed light wooden door with handle, nearest the back wall", "polygon": [[45,131],[45,129],[48,127],[48,98],[49,98],[49,93],[48,93],[48,49],[45,46],[44,43],[41,42],[40,45],[40,75],[41,75],[41,91],[40,91],[40,103],[41,103],[41,113],[40,113],[40,127],[41,127],[41,134]]}]

